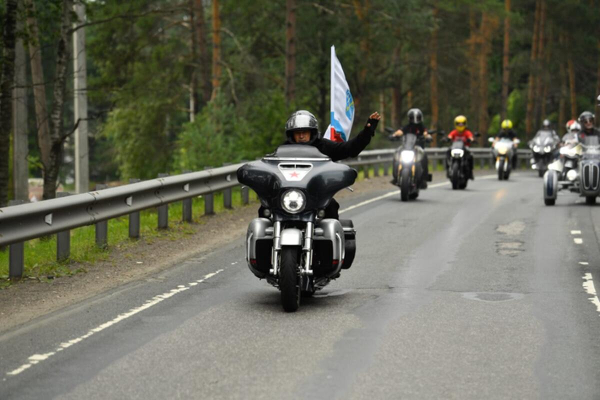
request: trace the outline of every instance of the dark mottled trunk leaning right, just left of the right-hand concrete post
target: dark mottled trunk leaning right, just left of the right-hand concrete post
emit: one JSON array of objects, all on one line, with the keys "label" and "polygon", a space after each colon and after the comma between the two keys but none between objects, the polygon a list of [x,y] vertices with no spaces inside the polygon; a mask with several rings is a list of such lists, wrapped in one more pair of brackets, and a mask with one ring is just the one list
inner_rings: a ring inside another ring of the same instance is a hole
[{"label": "dark mottled trunk leaning right, just left of the right-hand concrete post", "polygon": [[65,89],[67,85],[67,68],[70,59],[69,32],[71,29],[71,13],[73,0],[63,0],[61,34],[56,49],[56,75],[54,78],[54,101],[50,113],[50,160],[49,166],[44,169],[44,194],[43,199],[56,197],[56,181],[62,163],[62,146],[66,139],[63,132]]}]

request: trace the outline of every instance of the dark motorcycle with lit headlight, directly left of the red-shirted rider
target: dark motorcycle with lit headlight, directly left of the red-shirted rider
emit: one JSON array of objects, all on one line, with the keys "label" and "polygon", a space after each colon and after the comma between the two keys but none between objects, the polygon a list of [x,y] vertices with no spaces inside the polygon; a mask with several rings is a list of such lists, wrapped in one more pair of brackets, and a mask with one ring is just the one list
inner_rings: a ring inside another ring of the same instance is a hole
[{"label": "dark motorcycle with lit headlight, directly left of the red-shirted rider", "polygon": [[[389,130],[388,130],[389,131]],[[402,140],[402,145],[394,153],[394,184],[400,187],[400,200],[414,200],[419,197],[424,182],[431,182],[432,175],[425,176],[421,161],[425,150],[418,145],[418,137],[412,133],[403,136],[389,136],[390,140]],[[431,142],[431,139],[425,139]]]}]

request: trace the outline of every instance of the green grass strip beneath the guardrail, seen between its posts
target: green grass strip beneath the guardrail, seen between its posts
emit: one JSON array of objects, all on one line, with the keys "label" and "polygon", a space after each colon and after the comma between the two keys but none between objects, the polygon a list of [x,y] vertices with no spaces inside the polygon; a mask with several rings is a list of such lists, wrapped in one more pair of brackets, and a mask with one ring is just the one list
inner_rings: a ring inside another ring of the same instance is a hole
[{"label": "green grass strip beneath the guardrail, seen between its posts", "polygon": [[[256,194],[250,191],[250,202],[256,203]],[[241,189],[233,188],[232,204],[241,206]],[[223,212],[223,194],[214,194],[215,213]],[[192,215],[195,224],[202,224],[204,215],[203,197],[192,201]],[[140,212],[140,240],[151,242],[157,239],[178,240],[193,234],[193,226],[181,221],[181,201],[169,204],[169,229],[158,230],[158,213],[156,209]],[[45,239],[32,239],[25,242],[25,266],[23,276],[46,281],[58,276],[73,275],[85,272],[81,264],[107,260],[110,248],[128,248],[135,246],[137,239],[129,237],[129,218],[122,216],[108,221],[109,249],[98,248],[95,244],[95,227],[89,225],[71,230],[71,257],[66,261],[56,261],[56,235]],[[77,264],[75,264],[77,263]],[[77,266],[76,266],[77,265]],[[10,285],[8,280],[8,248],[0,251],[0,288]]]}]

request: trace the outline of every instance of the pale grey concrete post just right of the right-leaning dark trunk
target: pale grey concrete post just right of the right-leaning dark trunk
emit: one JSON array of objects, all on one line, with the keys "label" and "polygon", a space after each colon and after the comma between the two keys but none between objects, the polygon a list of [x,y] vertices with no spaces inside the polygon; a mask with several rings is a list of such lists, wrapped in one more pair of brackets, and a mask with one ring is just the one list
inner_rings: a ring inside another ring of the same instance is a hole
[{"label": "pale grey concrete post just right of the right-leaning dark trunk", "polygon": [[[77,21],[85,22],[85,6],[82,2],[74,5]],[[85,60],[85,28],[73,32],[73,76],[74,111],[77,130],[75,131],[75,191],[89,191],[89,150],[88,150],[88,70]]]}]

